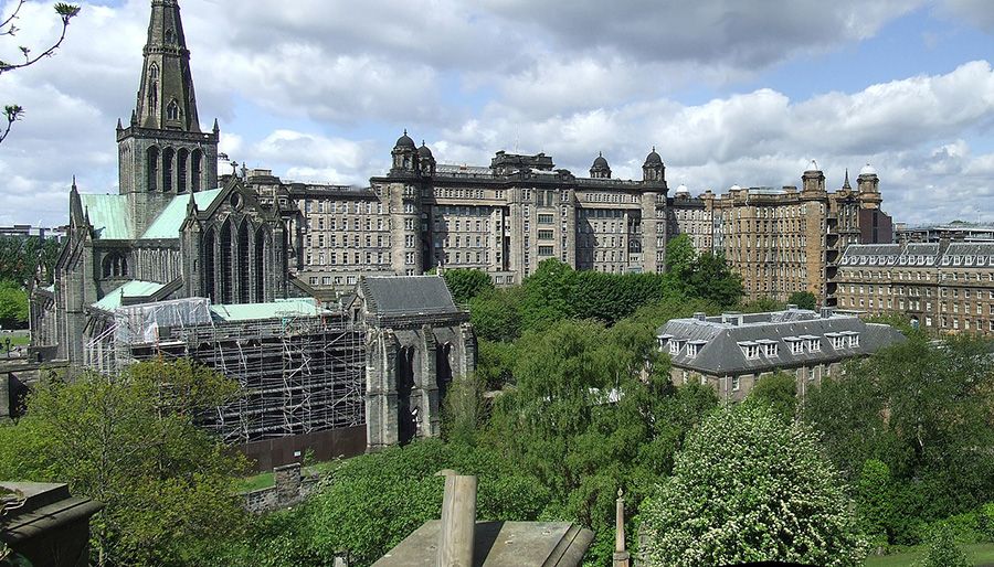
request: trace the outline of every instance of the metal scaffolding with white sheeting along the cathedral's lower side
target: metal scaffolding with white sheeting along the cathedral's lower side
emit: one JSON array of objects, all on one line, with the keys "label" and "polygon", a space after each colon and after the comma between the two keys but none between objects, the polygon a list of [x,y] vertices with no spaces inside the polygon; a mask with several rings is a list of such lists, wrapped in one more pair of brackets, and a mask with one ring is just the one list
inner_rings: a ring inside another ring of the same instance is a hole
[{"label": "metal scaffolding with white sheeting along the cathedral's lower side", "polygon": [[364,332],[346,313],[287,311],[219,321],[211,320],[208,300],[197,301],[204,302],[207,320],[201,306],[192,303],[118,309],[103,339],[91,341],[88,359],[104,372],[137,361],[186,357],[237,381],[239,399],[202,416],[203,426],[232,443],[366,422]]}]

